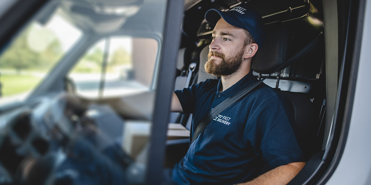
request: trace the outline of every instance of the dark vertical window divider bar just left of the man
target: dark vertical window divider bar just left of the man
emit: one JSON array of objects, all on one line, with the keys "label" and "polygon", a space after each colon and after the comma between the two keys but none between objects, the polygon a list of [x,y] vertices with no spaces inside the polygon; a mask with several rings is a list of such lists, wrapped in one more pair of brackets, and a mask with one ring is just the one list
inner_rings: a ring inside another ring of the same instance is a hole
[{"label": "dark vertical window divider bar just left of the man", "polygon": [[168,0],[145,184],[161,184],[175,61],[180,45],[183,0]]}]

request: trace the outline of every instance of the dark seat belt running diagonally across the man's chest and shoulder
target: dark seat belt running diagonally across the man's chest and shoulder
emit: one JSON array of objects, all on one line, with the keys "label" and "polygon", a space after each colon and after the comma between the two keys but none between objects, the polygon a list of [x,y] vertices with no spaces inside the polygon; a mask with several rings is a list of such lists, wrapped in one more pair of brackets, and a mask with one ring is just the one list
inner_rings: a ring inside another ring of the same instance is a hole
[{"label": "dark seat belt running diagonally across the man's chest and shoulder", "polygon": [[[310,53],[311,51],[315,50],[319,44],[323,41],[323,34],[320,34],[318,37],[316,37],[313,41],[311,41],[308,45],[306,45],[302,50],[300,50],[298,53],[296,53],[293,57],[291,57],[288,61],[283,63],[279,68],[277,68],[273,73],[276,73],[277,71],[283,70],[285,67],[287,67],[290,63],[297,60],[298,58],[302,57],[305,54]],[[256,83],[250,85],[249,87],[246,87],[242,89],[241,91],[237,92],[235,95],[233,95],[230,98],[227,98],[223,102],[221,102],[219,105],[211,109],[211,111],[200,121],[200,123],[197,125],[196,130],[193,133],[192,140],[190,142],[190,145],[197,139],[198,135],[201,134],[201,132],[206,128],[206,126],[213,120],[215,117],[217,117],[221,112],[226,110],[230,105],[234,104],[237,100],[240,100],[244,96],[247,95],[251,90],[253,90],[257,85],[262,83],[265,79],[270,77],[273,73],[269,74],[262,80],[257,81]]]}]

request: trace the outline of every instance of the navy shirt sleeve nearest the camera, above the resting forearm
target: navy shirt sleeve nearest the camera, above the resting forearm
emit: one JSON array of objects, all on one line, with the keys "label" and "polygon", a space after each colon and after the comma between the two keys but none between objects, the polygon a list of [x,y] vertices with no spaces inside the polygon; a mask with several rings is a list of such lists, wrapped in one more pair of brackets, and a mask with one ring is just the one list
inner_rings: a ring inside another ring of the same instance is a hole
[{"label": "navy shirt sleeve nearest the camera, above the resting forearm", "polygon": [[256,108],[247,126],[247,139],[254,153],[261,155],[271,169],[304,161],[291,126],[292,115],[285,108],[278,95],[273,95]]}]

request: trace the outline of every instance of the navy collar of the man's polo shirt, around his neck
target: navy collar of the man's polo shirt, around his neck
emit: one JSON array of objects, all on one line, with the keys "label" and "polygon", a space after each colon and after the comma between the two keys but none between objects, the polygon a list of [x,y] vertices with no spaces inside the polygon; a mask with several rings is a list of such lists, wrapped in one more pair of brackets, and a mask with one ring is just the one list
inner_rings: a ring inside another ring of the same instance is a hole
[{"label": "navy collar of the man's polo shirt, around his neck", "polygon": [[[255,83],[254,79],[256,80],[256,78],[253,75],[253,70],[250,70],[250,72],[247,75],[245,75],[243,78],[241,78],[241,80],[239,80],[237,83],[232,85],[227,90],[225,90],[223,92],[220,92],[220,93],[222,93],[222,94],[224,94],[224,95],[226,95],[227,97],[230,98],[233,95],[235,95],[237,92],[241,91],[243,88],[249,87],[249,85]],[[223,87],[223,86],[221,84],[221,79],[220,79],[219,83],[218,83],[218,86],[217,86],[216,89],[214,88],[214,91],[216,93],[218,93],[219,90],[221,89],[221,87]]]}]

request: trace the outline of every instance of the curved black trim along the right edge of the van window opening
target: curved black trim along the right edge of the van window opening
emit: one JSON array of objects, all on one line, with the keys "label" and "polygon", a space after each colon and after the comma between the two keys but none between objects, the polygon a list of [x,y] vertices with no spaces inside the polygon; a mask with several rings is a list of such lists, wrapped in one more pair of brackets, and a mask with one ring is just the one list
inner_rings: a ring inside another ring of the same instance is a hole
[{"label": "curved black trim along the right edge of the van window opening", "polygon": [[349,1],[347,34],[345,37],[344,55],[341,58],[337,103],[331,136],[322,159],[324,164],[319,173],[313,177],[312,183],[308,184],[326,184],[332,174],[334,174],[344,152],[357,81],[365,3],[365,0]]}]

